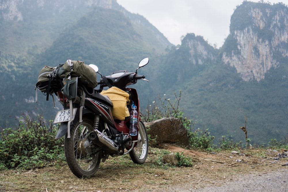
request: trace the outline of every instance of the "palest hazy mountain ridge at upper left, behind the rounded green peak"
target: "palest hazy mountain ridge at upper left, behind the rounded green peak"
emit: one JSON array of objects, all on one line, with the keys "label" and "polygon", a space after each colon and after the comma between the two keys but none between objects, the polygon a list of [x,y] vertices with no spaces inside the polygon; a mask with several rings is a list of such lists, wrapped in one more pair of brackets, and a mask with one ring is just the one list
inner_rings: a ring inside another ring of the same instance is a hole
[{"label": "palest hazy mountain ridge at upper left, behind the rounded green peak", "polygon": [[[172,46],[143,16],[129,13],[115,0],[0,0],[0,51],[9,54],[43,51],[61,33],[67,32],[66,28],[74,25],[88,12],[95,11],[95,7],[122,12],[129,18],[128,23],[133,25],[146,46],[155,46],[154,50],[160,52]],[[109,24],[109,21],[106,22]]]}]

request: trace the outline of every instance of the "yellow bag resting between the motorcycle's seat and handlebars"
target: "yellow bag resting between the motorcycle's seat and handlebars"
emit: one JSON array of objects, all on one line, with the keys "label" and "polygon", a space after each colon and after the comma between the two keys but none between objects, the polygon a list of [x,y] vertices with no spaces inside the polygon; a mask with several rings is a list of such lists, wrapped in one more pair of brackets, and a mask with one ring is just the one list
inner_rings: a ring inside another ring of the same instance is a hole
[{"label": "yellow bag resting between the motorcycle's seat and handlebars", "polygon": [[117,87],[111,87],[108,90],[101,92],[102,95],[107,95],[113,103],[112,115],[113,118],[124,121],[125,117],[129,117],[130,113],[127,104],[130,103],[129,94]]}]

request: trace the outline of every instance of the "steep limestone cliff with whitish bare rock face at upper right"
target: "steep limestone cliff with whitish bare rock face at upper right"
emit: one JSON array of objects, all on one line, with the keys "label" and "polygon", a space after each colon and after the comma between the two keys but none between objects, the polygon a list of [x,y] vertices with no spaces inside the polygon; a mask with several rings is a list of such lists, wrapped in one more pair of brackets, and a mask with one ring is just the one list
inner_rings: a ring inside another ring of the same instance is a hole
[{"label": "steep limestone cliff with whitish bare rock face at upper right", "polygon": [[244,1],[231,17],[222,61],[234,66],[244,81],[264,79],[288,56],[288,7],[282,3]]}]

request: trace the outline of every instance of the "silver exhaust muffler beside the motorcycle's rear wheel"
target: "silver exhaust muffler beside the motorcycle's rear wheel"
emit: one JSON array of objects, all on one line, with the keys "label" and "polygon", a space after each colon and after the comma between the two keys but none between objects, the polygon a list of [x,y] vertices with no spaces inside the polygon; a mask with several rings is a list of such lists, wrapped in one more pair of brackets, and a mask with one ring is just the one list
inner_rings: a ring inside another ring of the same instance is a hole
[{"label": "silver exhaust muffler beside the motorcycle's rear wheel", "polygon": [[99,145],[99,142],[100,142],[101,144],[104,144],[109,149],[113,151],[118,151],[118,148],[119,148],[118,145],[116,145],[114,141],[109,139],[105,134],[103,134],[97,129],[89,133],[89,139],[96,145]]}]

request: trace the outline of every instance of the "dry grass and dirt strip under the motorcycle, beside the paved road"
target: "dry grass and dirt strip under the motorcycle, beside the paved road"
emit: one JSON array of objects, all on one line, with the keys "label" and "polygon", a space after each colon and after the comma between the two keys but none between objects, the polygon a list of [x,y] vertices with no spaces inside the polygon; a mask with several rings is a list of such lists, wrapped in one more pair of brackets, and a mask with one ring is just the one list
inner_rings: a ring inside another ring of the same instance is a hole
[{"label": "dry grass and dirt strip under the motorcycle, beside the paved road", "polygon": [[160,149],[151,148],[145,164],[132,163],[129,155],[109,157],[91,178],[75,177],[66,164],[26,171],[1,171],[0,191],[168,191],[168,188],[179,188],[181,185],[199,190],[207,186],[221,186],[247,174],[263,175],[288,169],[285,149],[215,153],[186,150],[169,144],[162,144],[160,148],[174,153],[184,152],[192,157],[193,166],[160,165]]}]

